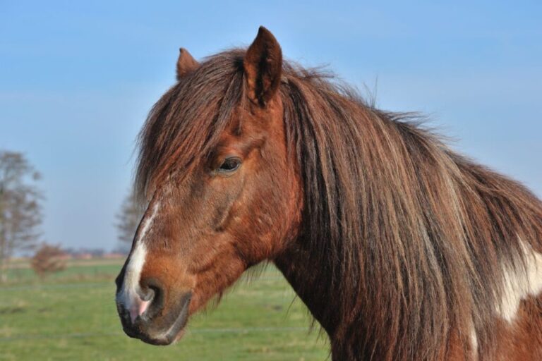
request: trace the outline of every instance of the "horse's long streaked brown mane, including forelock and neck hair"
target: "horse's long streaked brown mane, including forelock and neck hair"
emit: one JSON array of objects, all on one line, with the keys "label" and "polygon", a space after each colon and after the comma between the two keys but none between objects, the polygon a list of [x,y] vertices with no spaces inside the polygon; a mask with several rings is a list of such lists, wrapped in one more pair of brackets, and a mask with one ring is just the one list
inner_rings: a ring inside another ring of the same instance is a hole
[{"label": "horse's long streaked brown mane, including forelock and neck hair", "polygon": [[[207,58],[152,109],[140,194],[206,157],[235,121],[243,54]],[[332,300],[319,316],[337,324],[335,342],[375,360],[435,360],[474,329],[489,348],[505,272],[524,269],[524,245],[542,250],[540,200],[452,152],[415,116],[375,109],[318,71],[284,63],[279,96],[303,183],[300,252],[320,270],[297,291]]]}]

